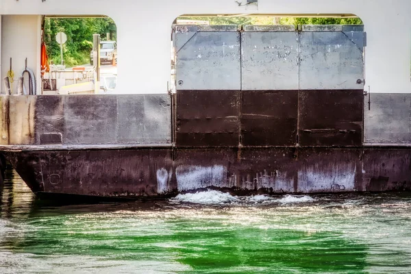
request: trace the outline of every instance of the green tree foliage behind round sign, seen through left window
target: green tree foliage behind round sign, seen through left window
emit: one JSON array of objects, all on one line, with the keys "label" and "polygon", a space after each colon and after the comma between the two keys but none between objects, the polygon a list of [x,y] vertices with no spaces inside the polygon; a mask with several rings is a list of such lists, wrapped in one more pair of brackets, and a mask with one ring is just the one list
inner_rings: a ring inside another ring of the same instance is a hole
[{"label": "green tree foliage behind round sign, seen through left window", "polygon": [[100,34],[101,40],[110,34],[116,39],[116,25],[111,18],[46,18],[45,42],[50,60],[60,64],[60,45],[55,40],[58,32],[67,35],[64,44],[64,62],[67,66],[75,66],[88,62],[92,49],[92,35]]}]

